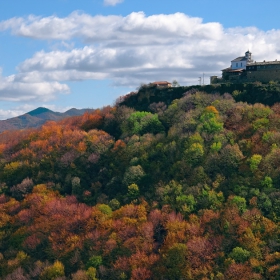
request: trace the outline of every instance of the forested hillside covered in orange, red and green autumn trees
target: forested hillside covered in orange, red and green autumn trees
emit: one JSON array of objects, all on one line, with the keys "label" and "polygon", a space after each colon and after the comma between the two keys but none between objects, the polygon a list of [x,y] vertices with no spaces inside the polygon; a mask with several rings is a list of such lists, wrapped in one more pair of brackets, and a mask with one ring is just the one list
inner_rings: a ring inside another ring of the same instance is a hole
[{"label": "forested hillside covered in orange, red and green autumn trees", "polygon": [[198,90],[1,133],[0,278],[280,279],[278,86]]}]

